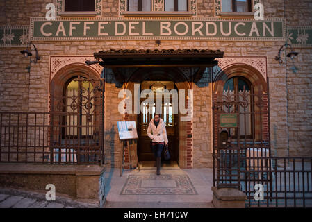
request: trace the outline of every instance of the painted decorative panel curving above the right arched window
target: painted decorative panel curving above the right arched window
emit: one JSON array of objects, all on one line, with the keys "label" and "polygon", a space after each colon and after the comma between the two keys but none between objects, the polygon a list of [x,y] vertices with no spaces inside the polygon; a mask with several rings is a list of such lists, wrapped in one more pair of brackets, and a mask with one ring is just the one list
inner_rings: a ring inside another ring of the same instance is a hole
[{"label": "painted decorative panel curving above the right arched window", "polygon": [[217,66],[213,67],[213,80],[222,69],[226,69],[231,65],[245,64],[257,69],[266,80],[268,76],[267,57],[266,56],[224,56],[217,58]]}]

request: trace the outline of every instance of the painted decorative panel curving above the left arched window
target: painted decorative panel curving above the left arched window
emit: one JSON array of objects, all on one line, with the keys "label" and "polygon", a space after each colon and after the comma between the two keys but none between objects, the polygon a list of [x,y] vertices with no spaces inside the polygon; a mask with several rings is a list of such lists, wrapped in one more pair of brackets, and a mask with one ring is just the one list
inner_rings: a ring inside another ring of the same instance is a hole
[{"label": "painted decorative panel curving above the left arched window", "polygon": [[[94,56],[50,56],[50,81],[55,76],[55,74],[66,65],[73,63],[85,65],[86,60],[94,59]],[[103,69],[103,67],[101,67],[99,64],[89,65],[88,67],[95,69],[99,75]]]}]

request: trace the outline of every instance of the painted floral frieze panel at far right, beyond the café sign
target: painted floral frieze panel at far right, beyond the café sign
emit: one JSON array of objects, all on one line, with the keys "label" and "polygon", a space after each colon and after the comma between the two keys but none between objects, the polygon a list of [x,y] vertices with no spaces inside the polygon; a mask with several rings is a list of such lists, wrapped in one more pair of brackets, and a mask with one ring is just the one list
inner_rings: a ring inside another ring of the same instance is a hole
[{"label": "painted floral frieze panel at far right, beyond the caf\u00e9 sign", "polygon": [[312,26],[288,26],[287,43],[293,47],[312,47]]}]

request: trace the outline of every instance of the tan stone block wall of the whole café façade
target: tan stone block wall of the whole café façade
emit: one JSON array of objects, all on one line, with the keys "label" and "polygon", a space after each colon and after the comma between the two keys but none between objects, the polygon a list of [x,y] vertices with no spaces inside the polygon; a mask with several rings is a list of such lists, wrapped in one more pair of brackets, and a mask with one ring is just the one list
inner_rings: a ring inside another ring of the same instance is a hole
[{"label": "tan stone block wall of the whole caf\u00e9 fa\u00e7ade", "polygon": [[[286,16],[287,25],[311,26],[311,1],[298,4],[286,1],[263,1],[265,18]],[[51,1],[1,1],[1,25],[28,25],[30,17],[44,17],[45,5]],[[103,0],[102,15],[118,16],[117,0]],[[29,11],[31,8],[31,12]],[[296,9],[296,10],[295,10]],[[284,13],[285,12],[285,13]],[[300,12],[300,13],[299,13]],[[198,17],[214,17],[213,0],[197,0]],[[0,101],[1,111],[40,111],[49,109],[49,56],[51,55],[88,55],[105,49],[155,49],[153,40],[146,41],[59,41],[34,42],[41,60],[32,64],[31,73],[24,69],[29,60],[19,53],[24,48],[3,48],[0,51]],[[299,56],[294,60],[299,71],[293,74],[292,64],[279,65],[274,57],[284,42],[261,41],[199,41],[199,40],[162,40],[158,49],[220,49],[224,56],[267,56],[268,77],[270,78],[270,117],[271,142],[273,155],[312,155],[312,92],[311,92],[311,49],[295,49]],[[289,60],[289,59],[288,59]],[[290,61],[290,60],[289,60]],[[204,74],[194,89],[193,119],[193,167],[211,167],[211,83]],[[287,83],[287,85],[286,85]],[[120,164],[121,146],[117,139],[116,121],[123,120],[117,112],[117,98],[121,86],[112,74],[106,80],[106,153],[107,161],[117,167]],[[288,92],[288,94],[286,94]],[[204,127],[208,126],[208,127]],[[289,144],[288,144],[289,142]]]}]

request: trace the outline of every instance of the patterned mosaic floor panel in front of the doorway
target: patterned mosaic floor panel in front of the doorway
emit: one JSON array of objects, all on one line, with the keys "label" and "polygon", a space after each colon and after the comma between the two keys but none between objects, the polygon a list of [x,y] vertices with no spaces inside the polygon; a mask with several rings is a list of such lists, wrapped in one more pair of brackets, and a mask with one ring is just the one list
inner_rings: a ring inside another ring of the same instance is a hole
[{"label": "patterned mosaic floor panel in front of the doorway", "polygon": [[129,175],[120,195],[197,195],[186,174]]}]

